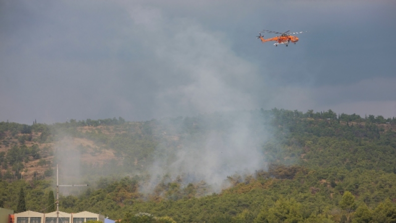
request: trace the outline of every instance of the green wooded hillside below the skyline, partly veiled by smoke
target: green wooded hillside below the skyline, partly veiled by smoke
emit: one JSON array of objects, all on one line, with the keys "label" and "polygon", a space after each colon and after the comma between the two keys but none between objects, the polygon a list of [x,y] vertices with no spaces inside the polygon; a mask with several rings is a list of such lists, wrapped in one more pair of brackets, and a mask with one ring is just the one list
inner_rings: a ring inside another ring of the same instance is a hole
[{"label": "green wooded hillside below the skyline, partly veiled by smoke", "polygon": [[27,209],[49,211],[59,164],[64,183],[90,185],[62,188],[60,210],[122,222],[396,222],[395,117],[3,121],[0,142],[0,207],[14,210],[23,188]]}]

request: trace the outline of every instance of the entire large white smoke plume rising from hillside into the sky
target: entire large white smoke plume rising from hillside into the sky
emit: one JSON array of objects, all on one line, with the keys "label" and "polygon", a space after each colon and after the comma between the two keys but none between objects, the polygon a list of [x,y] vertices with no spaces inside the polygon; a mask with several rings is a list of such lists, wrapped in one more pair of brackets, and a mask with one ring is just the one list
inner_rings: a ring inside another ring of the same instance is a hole
[{"label": "entire large white smoke plume rising from hillside into the sky", "polygon": [[[257,67],[235,54],[226,34],[210,31],[187,18],[167,18],[160,10],[134,7],[133,35],[143,38],[143,48],[152,50],[149,75],[157,80],[154,116],[197,115],[229,112],[255,107],[251,91],[263,92]],[[149,52],[144,52],[149,53]],[[160,70],[163,69],[163,70]],[[264,90],[265,91],[265,90]],[[238,112],[237,112],[238,113]],[[205,180],[219,191],[227,176],[248,174],[263,168],[260,143],[249,112],[227,115],[227,126],[206,123],[205,135],[182,138],[173,152],[157,148],[151,168],[150,190],[165,174],[189,175],[189,180]],[[167,134],[177,135],[167,129]],[[263,133],[263,132],[261,132]],[[188,178],[188,177],[187,177]]]}]

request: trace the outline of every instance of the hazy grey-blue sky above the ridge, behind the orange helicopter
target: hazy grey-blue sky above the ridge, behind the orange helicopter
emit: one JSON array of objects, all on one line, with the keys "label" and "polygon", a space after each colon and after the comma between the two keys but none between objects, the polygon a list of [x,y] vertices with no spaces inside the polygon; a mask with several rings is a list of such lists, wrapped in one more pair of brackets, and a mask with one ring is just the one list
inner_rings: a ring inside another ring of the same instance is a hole
[{"label": "hazy grey-blue sky above the ridge, behind the orange helicopter", "polygon": [[[395,11],[394,0],[0,0],[0,121],[396,116]],[[262,29],[308,32],[275,47]]]}]

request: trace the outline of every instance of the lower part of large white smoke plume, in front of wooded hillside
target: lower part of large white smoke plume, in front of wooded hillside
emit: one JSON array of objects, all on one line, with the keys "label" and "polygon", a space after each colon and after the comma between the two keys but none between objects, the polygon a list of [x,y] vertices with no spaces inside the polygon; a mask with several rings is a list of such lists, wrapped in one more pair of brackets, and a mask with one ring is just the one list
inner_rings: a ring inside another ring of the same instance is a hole
[{"label": "lower part of large white smoke plume, in front of wooded hillside", "polygon": [[188,129],[182,126],[168,125],[166,134],[179,136],[180,141],[173,149],[158,146],[144,192],[150,192],[164,175],[183,176],[185,185],[204,180],[219,192],[228,186],[227,176],[243,177],[266,167],[261,145],[268,133],[259,115],[248,111],[212,115],[202,115],[196,124],[205,130],[199,132],[185,133]]}]

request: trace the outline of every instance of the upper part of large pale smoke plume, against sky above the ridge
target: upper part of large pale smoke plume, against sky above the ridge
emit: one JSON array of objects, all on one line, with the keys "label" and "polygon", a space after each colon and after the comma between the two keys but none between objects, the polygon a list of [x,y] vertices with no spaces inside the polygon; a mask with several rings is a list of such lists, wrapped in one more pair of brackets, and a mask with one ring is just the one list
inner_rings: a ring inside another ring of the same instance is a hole
[{"label": "upper part of large pale smoke plume, against sky above the ridge", "polygon": [[262,92],[262,76],[235,54],[226,33],[189,18],[167,18],[158,9],[134,7],[130,14],[130,34],[152,61],[145,75],[157,86],[154,117],[255,107],[250,92]]}]

